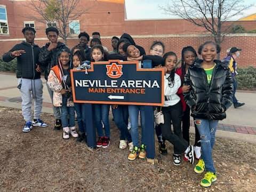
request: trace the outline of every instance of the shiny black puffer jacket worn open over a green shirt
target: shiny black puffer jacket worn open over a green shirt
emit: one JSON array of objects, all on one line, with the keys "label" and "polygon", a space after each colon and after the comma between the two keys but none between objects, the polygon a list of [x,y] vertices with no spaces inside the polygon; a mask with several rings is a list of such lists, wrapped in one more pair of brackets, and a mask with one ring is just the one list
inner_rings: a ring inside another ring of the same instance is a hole
[{"label": "shiny black puffer jacket worn open over a green shirt", "polygon": [[185,75],[185,85],[190,85],[190,92],[185,93],[185,100],[195,118],[222,120],[225,111],[231,106],[233,95],[232,79],[227,63],[217,63],[212,74],[211,85],[207,83],[206,73],[201,68],[203,60],[197,60],[189,67]]}]

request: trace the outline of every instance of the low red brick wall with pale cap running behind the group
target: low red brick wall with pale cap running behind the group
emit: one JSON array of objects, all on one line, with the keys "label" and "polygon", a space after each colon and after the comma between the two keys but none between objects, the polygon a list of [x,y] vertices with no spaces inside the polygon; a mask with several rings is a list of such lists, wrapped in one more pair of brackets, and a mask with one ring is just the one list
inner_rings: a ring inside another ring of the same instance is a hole
[{"label": "low red brick wall with pale cap running behind the group", "polygon": [[[181,57],[182,47],[191,45],[196,50],[199,45],[205,41],[212,40],[210,36],[203,35],[155,35],[155,36],[133,36],[134,41],[144,47],[149,53],[149,47],[155,40],[164,42],[166,51],[174,51],[178,58]],[[102,44],[111,50],[111,37],[102,37]],[[46,40],[36,41],[39,46],[43,46]],[[1,46],[0,55],[11,49],[11,47],[18,43],[17,41],[5,41],[4,46]],[[78,39],[68,39],[68,46],[73,47],[78,43]],[[237,46],[242,49],[241,56],[237,59],[239,67],[254,66],[256,67],[256,34],[234,34],[227,36],[221,45],[221,58],[225,57],[226,50],[231,46]]]}]

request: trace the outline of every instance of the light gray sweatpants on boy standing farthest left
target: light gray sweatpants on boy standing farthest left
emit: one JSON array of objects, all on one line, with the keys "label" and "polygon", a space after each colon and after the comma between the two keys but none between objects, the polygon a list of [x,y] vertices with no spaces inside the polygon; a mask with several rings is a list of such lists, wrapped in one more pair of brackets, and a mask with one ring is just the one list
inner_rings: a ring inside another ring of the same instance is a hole
[{"label": "light gray sweatpants on boy standing farthest left", "polygon": [[[21,78],[18,78],[18,84]],[[41,79],[22,78],[20,87],[22,99],[22,115],[25,121],[32,121],[32,99],[34,99],[34,119],[39,119],[42,112],[43,103],[43,83]]]}]

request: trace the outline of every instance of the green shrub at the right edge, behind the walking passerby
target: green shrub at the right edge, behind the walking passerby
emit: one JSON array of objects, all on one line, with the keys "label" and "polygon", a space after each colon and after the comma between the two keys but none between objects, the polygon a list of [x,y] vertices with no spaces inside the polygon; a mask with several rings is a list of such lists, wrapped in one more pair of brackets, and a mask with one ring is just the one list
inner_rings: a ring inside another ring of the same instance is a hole
[{"label": "green shrub at the right edge, behind the walking passerby", "polygon": [[256,68],[238,68],[236,76],[239,90],[256,90]]}]

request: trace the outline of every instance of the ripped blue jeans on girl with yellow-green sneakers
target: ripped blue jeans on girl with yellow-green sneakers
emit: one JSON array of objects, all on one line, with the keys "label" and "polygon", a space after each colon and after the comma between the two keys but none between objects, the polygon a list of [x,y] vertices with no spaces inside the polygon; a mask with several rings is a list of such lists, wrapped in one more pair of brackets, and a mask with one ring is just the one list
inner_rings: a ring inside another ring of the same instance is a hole
[{"label": "ripped blue jeans on girl with yellow-green sneakers", "polygon": [[205,170],[215,173],[212,149],[215,142],[215,132],[217,130],[218,121],[195,118],[195,124],[200,134],[202,159],[205,163]]}]

